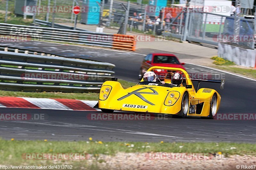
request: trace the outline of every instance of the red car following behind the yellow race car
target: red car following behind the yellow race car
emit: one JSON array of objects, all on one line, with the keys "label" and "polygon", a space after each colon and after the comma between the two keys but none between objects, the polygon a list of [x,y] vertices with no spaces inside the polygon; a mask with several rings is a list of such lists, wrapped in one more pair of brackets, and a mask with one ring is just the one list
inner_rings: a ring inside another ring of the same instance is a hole
[{"label": "red car following behind the yellow race car", "polygon": [[[181,68],[186,70],[179,61],[179,59],[173,54],[166,54],[166,53],[152,53],[145,56],[139,72],[139,78],[142,79],[144,73],[152,66],[161,66],[161,67],[174,67],[174,68]],[[166,70],[154,70],[156,75],[160,80],[163,80],[166,75]]]}]

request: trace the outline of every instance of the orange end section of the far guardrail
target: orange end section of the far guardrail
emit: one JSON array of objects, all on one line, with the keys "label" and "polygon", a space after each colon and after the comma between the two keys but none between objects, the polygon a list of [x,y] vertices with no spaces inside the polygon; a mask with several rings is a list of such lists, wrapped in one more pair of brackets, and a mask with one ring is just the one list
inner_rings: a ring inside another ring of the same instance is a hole
[{"label": "orange end section of the far guardrail", "polygon": [[136,38],[134,35],[113,34],[113,47],[135,51]]}]

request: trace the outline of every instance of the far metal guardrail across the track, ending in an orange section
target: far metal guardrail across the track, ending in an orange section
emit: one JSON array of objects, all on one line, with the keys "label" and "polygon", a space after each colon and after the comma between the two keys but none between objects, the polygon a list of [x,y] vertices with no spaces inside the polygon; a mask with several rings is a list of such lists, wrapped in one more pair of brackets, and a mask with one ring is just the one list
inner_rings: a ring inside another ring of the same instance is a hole
[{"label": "far metal guardrail across the track, ending in an orange section", "polygon": [[0,35],[28,36],[31,40],[64,41],[92,46],[135,51],[135,36],[105,34],[59,28],[24,26],[0,23]]}]

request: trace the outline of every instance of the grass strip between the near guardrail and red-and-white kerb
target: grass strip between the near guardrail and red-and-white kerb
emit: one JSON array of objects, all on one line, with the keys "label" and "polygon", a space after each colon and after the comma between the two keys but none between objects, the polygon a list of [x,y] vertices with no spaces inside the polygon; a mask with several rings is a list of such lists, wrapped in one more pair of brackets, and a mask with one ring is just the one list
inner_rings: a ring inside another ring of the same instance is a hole
[{"label": "grass strip between the near guardrail and red-and-white kerb", "polygon": [[[118,80],[126,89],[135,83],[125,80]],[[77,100],[98,100],[99,93],[62,93],[62,92],[13,92],[0,90],[0,97],[31,97],[31,98],[50,98],[50,99],[77,99]]]}]

